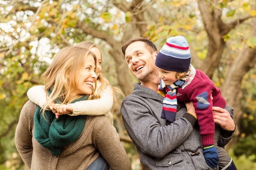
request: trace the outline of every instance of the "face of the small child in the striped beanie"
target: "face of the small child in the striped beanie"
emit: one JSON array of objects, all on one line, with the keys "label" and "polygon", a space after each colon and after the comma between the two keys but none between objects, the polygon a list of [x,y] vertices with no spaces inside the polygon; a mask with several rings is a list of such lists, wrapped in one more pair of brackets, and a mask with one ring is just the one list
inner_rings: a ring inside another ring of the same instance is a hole
[{"label": "face of the small child in the striped beanie", "polygon": [[157,69],[159,71],[159,78],[161,78],[164,81],[164,84],[166,86],[169,86],[177,81],[177,78],[176,78],[177,71],[168,71],[159,67],[157,67]]}]

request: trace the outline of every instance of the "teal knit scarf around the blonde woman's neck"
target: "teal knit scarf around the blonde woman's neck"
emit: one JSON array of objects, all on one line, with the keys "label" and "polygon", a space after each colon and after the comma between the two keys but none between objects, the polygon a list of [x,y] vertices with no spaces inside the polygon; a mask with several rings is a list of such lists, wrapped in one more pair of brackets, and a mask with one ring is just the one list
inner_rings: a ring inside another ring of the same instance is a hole
[{"label": "teal knit scarf around the blonde woman's neck", "polygon": [[[72,103],[87,99],[88,96],[81,97]],[[51,110],[45,110],[44,118],[40,109],[38,106],[34,115],[34,137],[41,146],[51,151],[52,155],[58,156],[61,154],[64,146],[71,144],[81,135],[86,115],[61,115],[56,119],[55,114]]]}]

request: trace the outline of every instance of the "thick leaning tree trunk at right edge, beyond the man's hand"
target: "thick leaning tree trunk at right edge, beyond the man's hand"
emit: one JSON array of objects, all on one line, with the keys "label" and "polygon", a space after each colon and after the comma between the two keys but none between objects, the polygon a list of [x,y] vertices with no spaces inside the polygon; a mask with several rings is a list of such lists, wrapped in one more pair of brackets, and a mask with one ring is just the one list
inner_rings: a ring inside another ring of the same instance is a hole
[{"label": "thick leaning tree trunk at right edge, beyond the man's hand", "polygon": [[[256,18],[252,19],[252,25],[256,24]],[[256,37],[256,28],[252,27],[250,37]],[[245,73],[254,68],[256,64],[256,47],[250,48],[245,44],[244,49],[239,53],[238,57],[234,60],[233,65],[228,71],[225,82],[222,84],[222,95],[227,100],[227,104],[234,108],[234,121],[236,125],[242,118],[243,112],[241,110],[240,100],[242,98],[241,82]],[[236,143],[239,135],[239,127],[236,126],[235,135],[225,150],[228,150],[232,144]]]}]

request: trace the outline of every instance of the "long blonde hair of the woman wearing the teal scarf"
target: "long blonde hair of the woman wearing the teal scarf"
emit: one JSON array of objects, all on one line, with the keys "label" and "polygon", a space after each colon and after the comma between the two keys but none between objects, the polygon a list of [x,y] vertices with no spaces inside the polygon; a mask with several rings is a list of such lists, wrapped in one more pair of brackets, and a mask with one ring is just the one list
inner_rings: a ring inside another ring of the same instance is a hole
[{"label": "long blonde hair of the woman wearing the teal scarf", "polygon": [[[83,49],[78,46],[67,46],[56,54],[52,64],[41,77],[45,84],[46,93],[49,90],[51,91],[51,94],[47,97],[47,102],[43,106],[43,110],[56,99],[60,99],[62,104],[67,104],[84,96],[78,95],[73,99],[69,99],[70,94],[76,90],[76,83],[81,75],[81,70],[85,66],[88,55],[92,55],[94,58],[95,69],[97,69],[96,56],[89,49]],[[89,99],[99,98],[94,93],[88,95]]]}]

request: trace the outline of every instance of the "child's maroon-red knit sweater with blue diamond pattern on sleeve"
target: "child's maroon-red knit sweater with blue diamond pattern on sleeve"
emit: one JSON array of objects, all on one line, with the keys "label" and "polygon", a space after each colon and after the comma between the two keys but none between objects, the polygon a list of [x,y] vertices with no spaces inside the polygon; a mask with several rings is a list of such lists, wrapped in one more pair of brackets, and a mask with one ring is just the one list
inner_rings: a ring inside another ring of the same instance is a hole
[{"label": "child's maroon-red knit sweater with blue diamond pattern on sleeve", "polygon": [[[213,84],[211,79],[204,72],[198,69],[195,70],[195,77],[190,84],[176,89],[177,100],[179,102],[191,101],[193,103],[200,126],[202,144],[203,146],[213,145],[215,125],[212,106],[224,108],[226,101],[221,96],[220,89]],[[213,100],[211,100],[211,94]]]}]

